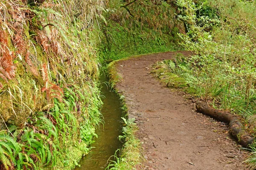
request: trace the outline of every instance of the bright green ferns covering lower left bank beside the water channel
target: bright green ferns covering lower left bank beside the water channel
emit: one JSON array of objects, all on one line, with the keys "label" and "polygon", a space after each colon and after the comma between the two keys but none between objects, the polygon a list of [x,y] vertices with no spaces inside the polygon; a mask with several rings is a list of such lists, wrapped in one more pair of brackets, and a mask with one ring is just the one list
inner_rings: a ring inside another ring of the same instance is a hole
[{"label": "bright green ferns covering lower left bank beside the water channel", "polygon": [[[17,170],[57,166],[63,170],[77,165],[81,156],[89,151],[88,146],[96,136],[96,125],[101,120],[99,89],[96,85],[86,87],[66,88],[64,102],[54,99],[54,107],[47,114],[37,113],[23,129],[9,128],[14,131],[14,137],[11,133],[0,133],[0,162],[3,166]],[[78,144],[80,147],[73,147]],[[70,152],[71,148],[76,152],[75,156]]]}]

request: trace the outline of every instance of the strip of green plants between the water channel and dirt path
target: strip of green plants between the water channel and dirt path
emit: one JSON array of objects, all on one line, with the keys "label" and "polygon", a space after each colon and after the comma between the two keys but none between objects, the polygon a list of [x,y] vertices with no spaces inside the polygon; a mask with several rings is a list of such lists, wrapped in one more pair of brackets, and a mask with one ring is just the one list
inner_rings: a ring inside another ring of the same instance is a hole
[{"label": "strip of green plants between the water channel and dirt path", "polygon": [[[111,62],[107,68],[109,82],[111,83],[111,87],[116,93],[118,93],[118,89],[116,89],[116,83],[121,81],[121,77],[118,76],[115,65],[118,61],[125,59],[129,58],[115,60]],[[119,97],[122,101],[122,110],[124,113],[127,114],[128,108],[124,101],[125,96],[119,94]],[[140,164],[140,162],[142,161],[141,142],[136,137],[138,127],[136,123],[134,123],[135,119],[125,119],[123,117],[122,119],[125,123],[125,126],[122,128],[123,136],[119,136],[119,139],[124,141],[124,146],[122,147],[122,150],[116,151],[115,155],[113,156],[115,160],[109,162],[108,167],[106,167],[106,170],[132,170],[135,168],[137,164]],[[120,154],[117,155],[117,152],[119,151]]]}]

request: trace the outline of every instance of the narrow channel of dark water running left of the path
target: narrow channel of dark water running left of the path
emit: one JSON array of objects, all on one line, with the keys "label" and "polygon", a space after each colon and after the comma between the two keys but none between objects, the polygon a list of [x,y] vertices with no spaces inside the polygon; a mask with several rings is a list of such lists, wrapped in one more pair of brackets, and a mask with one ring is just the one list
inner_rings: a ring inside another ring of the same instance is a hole
[{"label": "narrow channel of dark water running left of the path", "polygon": [[96,131],[98,138],[91,145],[92,150],[81,159],[79,162],[81,166],[76,167],[75,170],[105,170],[108,166],[108,159],[115,154],[117,149],[122,147],[122,142],[118,139],[118,136],[122,135],[121,102],[118,95],[110,91],[111,88],[108,83],[105,83],[108,82],[108,78],[103,73],[100,76],[100,82],[101,92],[104,96],[102,97],[104,104],[101,112],[105,124],[98,127]]}]

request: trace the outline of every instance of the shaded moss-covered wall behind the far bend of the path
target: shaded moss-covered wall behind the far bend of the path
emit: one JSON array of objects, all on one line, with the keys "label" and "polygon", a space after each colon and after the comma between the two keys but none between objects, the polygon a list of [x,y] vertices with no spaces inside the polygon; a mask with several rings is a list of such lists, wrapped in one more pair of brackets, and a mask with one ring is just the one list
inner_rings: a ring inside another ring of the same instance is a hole
[{"label": "shaded moss-covered wall behind the far bend of the path", "polygon": [[[182,22],[176,19],[179,11],[174,3],[154,0],[136,1],[122,8],[126,1],[109,0],[113,13],[105,14],[99,56],[103,60],[178,49],[185,33]],[[133,15],[133,16],[131,16]]]}]

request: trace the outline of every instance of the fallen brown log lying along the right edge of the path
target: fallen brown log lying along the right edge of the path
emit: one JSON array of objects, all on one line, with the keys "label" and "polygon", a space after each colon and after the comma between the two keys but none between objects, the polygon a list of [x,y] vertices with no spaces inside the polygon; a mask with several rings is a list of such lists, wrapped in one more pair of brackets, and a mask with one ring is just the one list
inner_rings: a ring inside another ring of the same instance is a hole
[{"label": "fallen brown log lying along the right edge of the path", "polygon": [[254,142],[255,138],[250,136],[250,134],[244,130],[244,126],[237,118],[237,116],[228,112],[211,108],[202,102],[197,102],[195,107],[200,113],[217,119],[218,121],[228,123],[230,134],[234,136],[239,144],[241,144],[243,147],[249,147],[249,145]]}]

